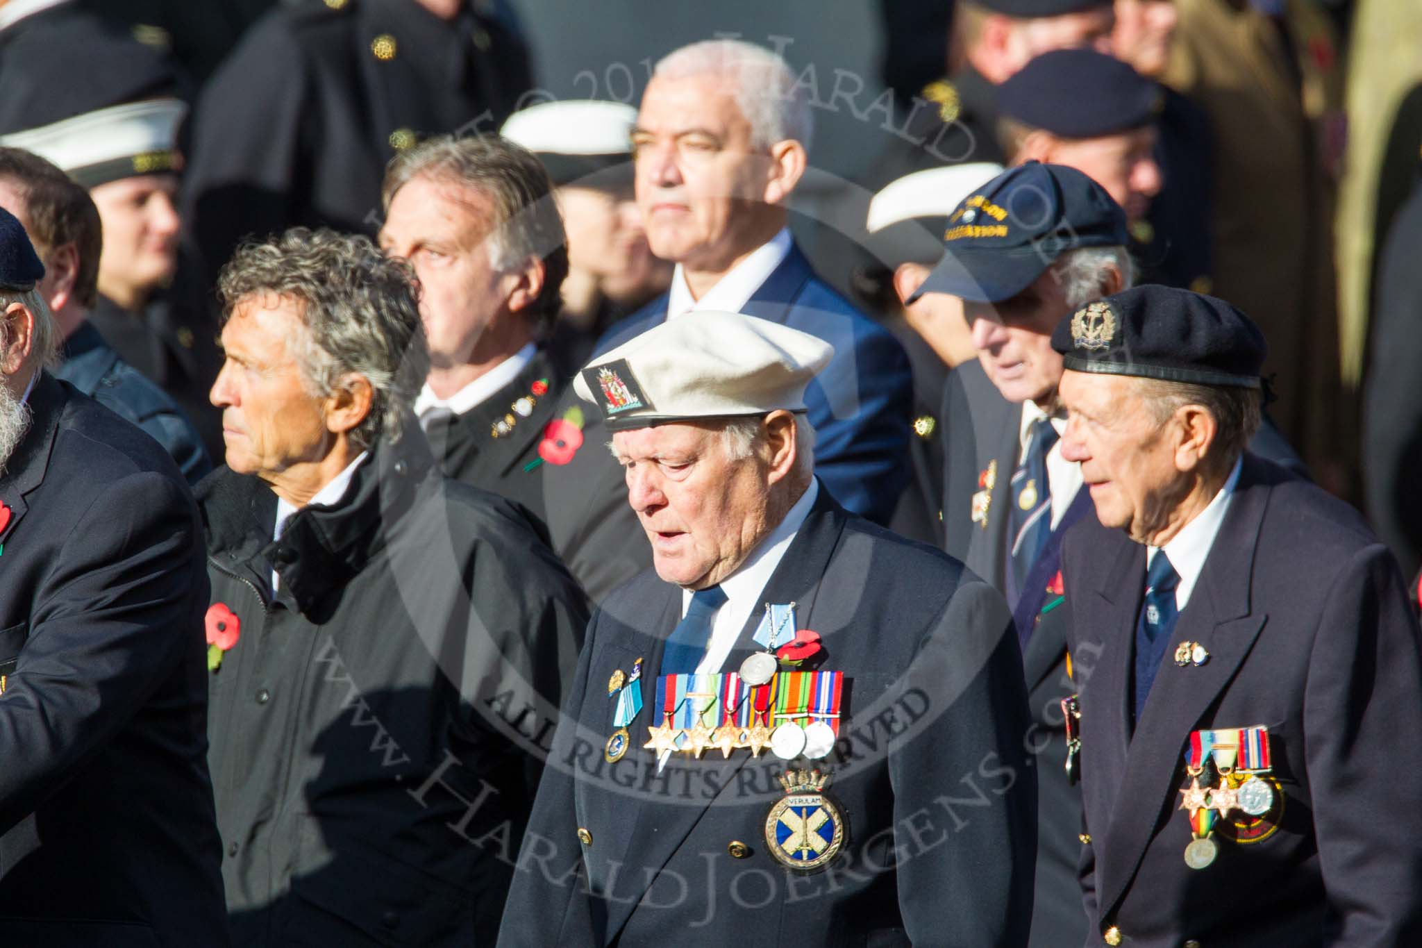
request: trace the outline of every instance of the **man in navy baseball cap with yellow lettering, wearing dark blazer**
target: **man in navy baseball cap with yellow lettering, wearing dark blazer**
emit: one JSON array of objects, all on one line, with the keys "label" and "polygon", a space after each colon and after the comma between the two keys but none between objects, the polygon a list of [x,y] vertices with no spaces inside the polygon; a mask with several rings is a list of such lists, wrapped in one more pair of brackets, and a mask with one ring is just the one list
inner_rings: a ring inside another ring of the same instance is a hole
[{"label": "man in navy baseball cap with yellow lettering, wearing dark blazer", "polygon": [[[1038,199],[1045,203],[1032,203]],[[991,229],[993,208],[1011,209],[1007,236]],[[975,219],[987,225],[974,230]],[[943,262],[916,297],[961,298],[978,351],[977,360],[950,372],[944,389],[946,549],[1001,590],[1014,610],[1032,715],[1024,745],[1038,766],[1030,944],[1076,944],[1086,935],[1076,884],[1081,793],[1064,770],[1061,699],[1072,688],[1058,573],[1061,536],[1091,500],[1079,489],[1079,468],[1062,459],[1055,443],[1066,421],[1057,398],[1062,361],[1051,350],[1051,331],[1064,311],[1129,286],[1130,237],[1125,213],[1101,185],[1072,168],[1037,162],[974,190],[950,222]],[[1071,236],[1054,242],[1058,233]],[[1034,438],[1034,425],[1051,431]],[[1034,478],[1038,483],[1028,493]],[[1020,509],[1024,497],[1030,509]],[[1034,513],[1042,519],[1038,534],[1028,526]]]}]

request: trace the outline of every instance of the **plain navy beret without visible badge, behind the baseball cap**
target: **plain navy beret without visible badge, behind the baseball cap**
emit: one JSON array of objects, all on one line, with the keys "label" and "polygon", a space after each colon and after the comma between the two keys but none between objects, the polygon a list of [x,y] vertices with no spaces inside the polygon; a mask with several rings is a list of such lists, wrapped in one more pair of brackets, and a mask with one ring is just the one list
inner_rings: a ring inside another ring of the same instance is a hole
[{"label": "plain navy beret without visible badge, behind the baseball cap", "polygon": [[1155,121],[1153,80],[1095,50],[1044,53],[997,88],[998,114],[1062,138],[1099,138]]}]

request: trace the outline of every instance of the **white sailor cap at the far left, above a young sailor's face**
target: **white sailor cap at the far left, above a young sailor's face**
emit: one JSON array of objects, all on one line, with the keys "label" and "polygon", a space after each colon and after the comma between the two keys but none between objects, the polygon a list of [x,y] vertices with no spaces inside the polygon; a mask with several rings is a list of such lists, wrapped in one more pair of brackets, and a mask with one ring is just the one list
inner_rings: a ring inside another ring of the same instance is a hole
[{"label": "white sailor cap at the far left, above a young sailor's face", "polygon": [[188,105],[176,98],[127,102],[0,135],[0,145],[34,152],[80,185],[94,188],[119,178],[179,171],[178,124],[186,112]]}]

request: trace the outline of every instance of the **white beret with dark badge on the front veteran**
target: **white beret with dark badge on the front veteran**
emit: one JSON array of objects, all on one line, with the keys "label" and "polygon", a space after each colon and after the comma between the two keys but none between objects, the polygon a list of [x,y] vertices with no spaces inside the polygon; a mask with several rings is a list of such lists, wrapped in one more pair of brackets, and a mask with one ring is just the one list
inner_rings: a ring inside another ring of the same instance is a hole
[{"label": "white beret with dark badge on the front veteran", "polygon": [[693,310],[599,355],[573,385],[609,431],[798,412],[833,355],[825,340],[779,323]]}]

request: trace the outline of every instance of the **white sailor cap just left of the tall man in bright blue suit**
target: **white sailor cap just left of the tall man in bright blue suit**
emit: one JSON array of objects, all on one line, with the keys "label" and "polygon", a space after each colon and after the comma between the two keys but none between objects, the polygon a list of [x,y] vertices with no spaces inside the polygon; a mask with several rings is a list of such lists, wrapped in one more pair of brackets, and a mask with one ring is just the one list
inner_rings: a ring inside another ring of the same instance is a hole
[{"label": "white sailor cap just left of the tall man in bright blue suit", "polygon": [[610,181],[606,169],[627,178],[636,124],[637,109],[623,102],[540,102],[510,115],[499,135],[538,155],[555,185],[596,188]]}]

